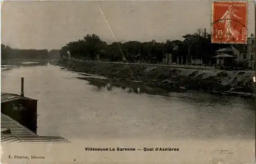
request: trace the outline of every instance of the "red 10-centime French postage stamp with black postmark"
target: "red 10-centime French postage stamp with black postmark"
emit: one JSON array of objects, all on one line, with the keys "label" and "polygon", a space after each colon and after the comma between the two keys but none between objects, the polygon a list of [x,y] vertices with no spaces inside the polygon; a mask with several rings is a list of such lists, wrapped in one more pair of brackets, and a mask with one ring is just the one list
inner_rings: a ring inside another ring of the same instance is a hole
[{"label": "red 10-centime French postage stamp with black postmark", "polygon": [[212,43],[247,43],[247,2],[212,3]]}]

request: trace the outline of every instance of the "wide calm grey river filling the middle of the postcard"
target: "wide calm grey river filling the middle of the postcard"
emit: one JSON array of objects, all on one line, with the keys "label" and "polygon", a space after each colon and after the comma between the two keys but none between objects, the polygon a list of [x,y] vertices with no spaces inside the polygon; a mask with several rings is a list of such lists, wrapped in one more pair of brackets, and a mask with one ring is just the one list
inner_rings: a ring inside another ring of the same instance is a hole
[{"label": "wide calm grey river filling the middle of the postcard", "polygon": [[2,92],[19,93],[21,77],[25,96],[38,99],[39,135],[60,135],[71,142],[246,141],[249,147],[244,149],[255,148],[254,99],[167,92],[141,84],[125,88],[121,82],[115,84],[50,64],[2,69]]}]

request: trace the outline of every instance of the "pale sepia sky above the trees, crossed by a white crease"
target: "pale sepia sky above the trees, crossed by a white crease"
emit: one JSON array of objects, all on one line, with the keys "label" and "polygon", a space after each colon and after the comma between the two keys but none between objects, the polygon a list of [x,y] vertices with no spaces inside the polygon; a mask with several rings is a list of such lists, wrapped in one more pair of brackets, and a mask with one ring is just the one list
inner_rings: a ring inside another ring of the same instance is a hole
[{"label": "pale sepia sky above the trees, crossed by a white crease", "polygon": [[[212,1],[5,1],[2,43],[13,48],[60,49],[96,34],[103,41],[182,40],[206,28]],[[108,23],[107,23],[108,22]],[[254,2],[248,34],[254,33]]]}]

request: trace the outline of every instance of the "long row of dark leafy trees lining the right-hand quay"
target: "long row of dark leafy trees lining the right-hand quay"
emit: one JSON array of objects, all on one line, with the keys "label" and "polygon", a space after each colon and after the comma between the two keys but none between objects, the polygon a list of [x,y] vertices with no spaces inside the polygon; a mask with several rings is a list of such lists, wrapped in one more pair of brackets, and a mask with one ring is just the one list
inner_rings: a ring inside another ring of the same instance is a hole
[{"label": "long row of dark leafy trees lining the right-hand quay", "polygon": [[209,64],[215,63],[212,57],[216,56],[216,50],[227,47],[226,44],[212,44],[211,34],[204,34],[201,29],[198,29],[194,34],[187,34],[182,37],[183,41],[156,42],[152,40],[149,42],[127,41],[106,44],[99,36],[92,34],[67,43],[59,52],[61,58],[70,56],[73,59],[93,61],[140,61],[143,63],[161,63],[164,58],[166,59],[167,54],[172,54],[172,62],[177,62],[177,59],[181,62],[183,58],[183,63],[180,64],[185,64],[186,59],[188,59],[188,63],[191,63],[190,60],[200,59],[204,64]]}]

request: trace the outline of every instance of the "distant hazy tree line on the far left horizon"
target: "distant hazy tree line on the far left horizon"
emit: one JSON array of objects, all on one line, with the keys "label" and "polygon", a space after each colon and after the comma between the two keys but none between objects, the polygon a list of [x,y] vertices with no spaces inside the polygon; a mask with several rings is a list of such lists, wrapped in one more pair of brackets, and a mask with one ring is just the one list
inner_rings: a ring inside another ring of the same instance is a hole
[{"label": "distant hazy tree line on the far left horizon", "polygon": [[57,59],[59,58],[59,49],[17,49],[8,45],[1,44],[1,59]]}]

